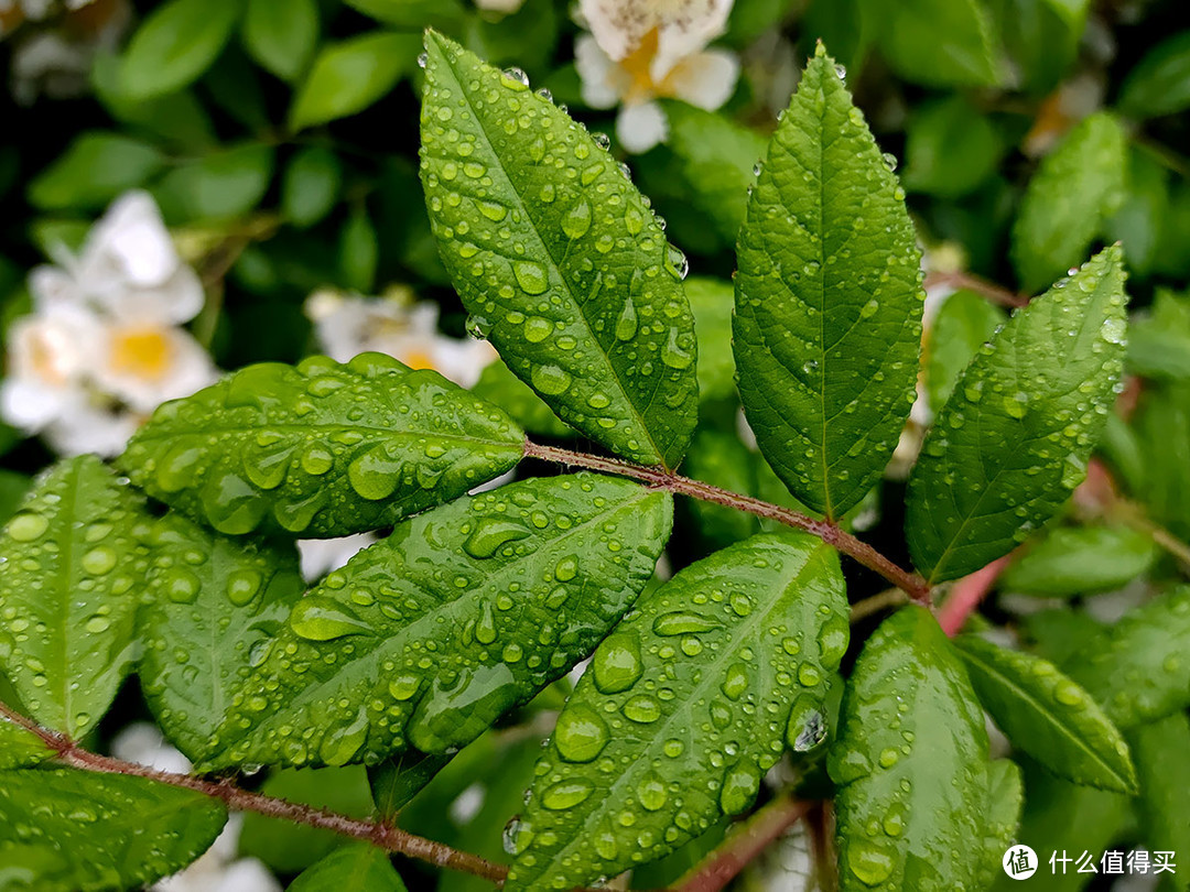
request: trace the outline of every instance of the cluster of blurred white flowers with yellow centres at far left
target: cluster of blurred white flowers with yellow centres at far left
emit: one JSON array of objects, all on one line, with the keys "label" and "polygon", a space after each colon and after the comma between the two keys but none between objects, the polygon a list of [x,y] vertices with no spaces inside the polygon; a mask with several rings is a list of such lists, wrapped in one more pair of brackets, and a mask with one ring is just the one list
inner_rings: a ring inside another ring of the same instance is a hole
[{"label": "cluster of blurred white flowers with yellow centres at far left", "polygon": [[30,275],[33,313],[8,332],[0,414],[62,454],[114,454],[159,403],[209,384],[214,365],[180,327],[202,283],[146,193],[119,199],[79,256]]}]

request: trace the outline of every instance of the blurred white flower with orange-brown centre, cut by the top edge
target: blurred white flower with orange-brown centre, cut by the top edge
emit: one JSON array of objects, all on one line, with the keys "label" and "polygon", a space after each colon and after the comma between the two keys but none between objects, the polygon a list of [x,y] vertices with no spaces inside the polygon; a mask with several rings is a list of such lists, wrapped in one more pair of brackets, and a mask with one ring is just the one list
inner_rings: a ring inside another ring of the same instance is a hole
[{"label": "blurred white flower with orange-brown centre, cut by the top edge", "polygon": [[733,0],[582,0],[590,34],[575,44],[583,101],[620,105],[615,134],[628,152],[665,139],[665,113],[654,101],[684,100],[708,111],[735,89],[739,58],[707,50],[722,33]]}]

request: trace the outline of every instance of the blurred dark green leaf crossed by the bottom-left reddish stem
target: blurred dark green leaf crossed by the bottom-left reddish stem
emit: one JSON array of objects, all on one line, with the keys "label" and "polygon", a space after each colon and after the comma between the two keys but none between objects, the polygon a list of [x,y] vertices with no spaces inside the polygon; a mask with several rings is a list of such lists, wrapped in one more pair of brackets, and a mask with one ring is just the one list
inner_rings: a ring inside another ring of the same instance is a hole
[{"label": "blurred dark green leaf crossed by the bottom-left reddish stem", "polygon": [[[269,774],[261,792],[349,817],[365,818],[372,812],[368,775],[358,765],[277,771]],[[345,842],[345,837],[332,830],[248,812],[239,837],[239,854],[258,858],[277,873],[292,874],[305,871]]]}]

